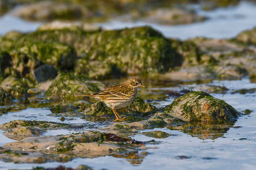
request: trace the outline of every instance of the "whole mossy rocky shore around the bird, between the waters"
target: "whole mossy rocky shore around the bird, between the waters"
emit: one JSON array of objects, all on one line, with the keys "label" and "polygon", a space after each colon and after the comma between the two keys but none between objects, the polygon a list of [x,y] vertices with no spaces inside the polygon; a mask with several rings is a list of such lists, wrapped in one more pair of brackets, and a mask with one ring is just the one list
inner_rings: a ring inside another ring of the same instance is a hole
[{"label": "whole mossy rocky shore around the bird, between the waters", "polygon": [[[54,25],[53,25],[54,26]],[[154,127],[181,130],[201,139],[227,132],[243,113],[208,93],[225,94],[224,86],[201,85],[193,90],[166,90],[154,99],[175,96],[164,108],[137,97],[119,110],[124,122],[111,123],[114,114],[102,102],[75,97],[113,85],[111,79],[137,75],[148,82],[212,81],[256,77],[256,29],[241,32],[233,39],[197,37],[181,41],[164,37],[149,26],[120,30],[43,26],[31,33],[11,31],[0,37],[1,112],[13,105],[27,107],[47,101],[50,116],[81,117],[105,122],[98,130],[68,135],[44,136],[49,130],[80,130],[83,126],[59,122],[17,119],[0,125],[0,130],[16,140],[0,147],[0,160],[15,163],[67,162],[76,157],[141,157],[145,144],[128,136],[145,134],[156,139],[171,136]],[[119,80],[118,80],[119,81]],[[250,93],[255,89],[233,91]],[[207,93],[208,92],[208,93]],[[157,93],[157,92],[156,92]],[[141,94],[141,96],[148,94]],[[248,111],[245,111],[248,113]],[[2,114],[1,113],[1,114]],[[63,117],[63,118],[62,118]],[[188,126],[195,128],[187,130]],[[155,141],[148,141],[154,143]],[[57,156],[56,156],[57,155]]]}]

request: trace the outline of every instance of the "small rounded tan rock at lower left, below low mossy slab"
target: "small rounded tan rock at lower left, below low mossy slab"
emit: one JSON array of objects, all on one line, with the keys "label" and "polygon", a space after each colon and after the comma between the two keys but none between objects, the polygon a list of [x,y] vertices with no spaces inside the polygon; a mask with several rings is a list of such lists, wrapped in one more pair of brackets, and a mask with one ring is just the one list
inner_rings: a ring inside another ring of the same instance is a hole
[{"label": "small rounded tan rock at lower left, below low mossy slab", "polygon": [[16,127],[10,130],[6,130],[4,134],[7,138],[21,140],[26,137],[39,136],[43,133],[43,130],[35,127]]}]

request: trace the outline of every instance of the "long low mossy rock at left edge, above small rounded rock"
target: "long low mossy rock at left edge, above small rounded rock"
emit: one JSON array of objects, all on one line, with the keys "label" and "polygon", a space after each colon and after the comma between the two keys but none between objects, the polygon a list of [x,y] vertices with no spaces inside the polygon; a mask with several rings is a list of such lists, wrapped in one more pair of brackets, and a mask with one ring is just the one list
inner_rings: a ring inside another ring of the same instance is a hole
[{"label": "long low mossy rock at left edge, above small rounded rock", "polygon": [[13,120],[11,122],[0,125],[1,130],[9,130],[16,127],[38,127],[41,129],[57,129],[62,127],[68,127],[65,123],[47,122],[47,121],[35,121],[35,120]]}]

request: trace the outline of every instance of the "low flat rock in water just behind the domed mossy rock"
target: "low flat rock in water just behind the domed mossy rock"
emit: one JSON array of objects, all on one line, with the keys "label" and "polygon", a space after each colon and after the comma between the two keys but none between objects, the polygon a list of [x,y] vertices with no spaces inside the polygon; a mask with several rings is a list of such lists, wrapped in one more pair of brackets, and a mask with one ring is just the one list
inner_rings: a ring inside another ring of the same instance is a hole
[{"label": "low flat rock in water just behind the domed mossy rock", "polygon": [[224,86],[218,85],[200,85],[194,88],[196,91],[204,91],[207,93],[225,94],[229,90]]}]

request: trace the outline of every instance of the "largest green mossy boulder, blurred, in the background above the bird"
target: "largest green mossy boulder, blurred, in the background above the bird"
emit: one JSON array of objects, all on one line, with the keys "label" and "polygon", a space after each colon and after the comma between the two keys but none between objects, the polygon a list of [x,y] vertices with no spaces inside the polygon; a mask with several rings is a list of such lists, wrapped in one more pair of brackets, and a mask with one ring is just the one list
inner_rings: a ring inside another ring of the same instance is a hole
[{"label": "largest green mossy boulder, blurred, in the background above the bird", "polygon": [[[84,46],[84,51],[90,51],[78,60],[75,71],[89,77],[116,77],[115,72],[159,73],[179,65],[181,59],[171,43],[150,27],[102,31],[86,41],[90,47]],[[95,41],[98,43],[92,46]]]}]

